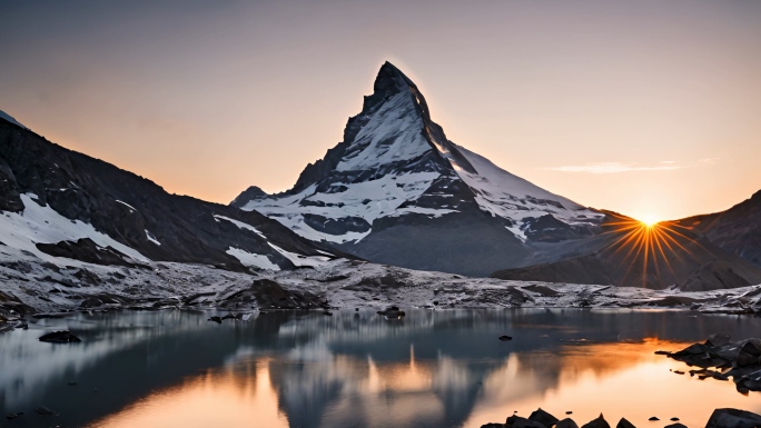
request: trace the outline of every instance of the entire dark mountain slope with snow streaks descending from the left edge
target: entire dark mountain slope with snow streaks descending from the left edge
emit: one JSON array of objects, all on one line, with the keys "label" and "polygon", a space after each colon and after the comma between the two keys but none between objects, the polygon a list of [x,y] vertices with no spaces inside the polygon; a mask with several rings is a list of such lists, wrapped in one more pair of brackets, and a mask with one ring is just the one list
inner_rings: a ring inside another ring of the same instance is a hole
[{"label": "entire dark mountain slope with snow streaks descending from the left edge", "polygon": [[6,119],[0,119],[0,210],[6,246],[0,248],[62,263],[72,263],[71,258],[110,263],[116,255],[138,263],[244,270],[333,257],[256,211],[169,195],[150,180]]}]

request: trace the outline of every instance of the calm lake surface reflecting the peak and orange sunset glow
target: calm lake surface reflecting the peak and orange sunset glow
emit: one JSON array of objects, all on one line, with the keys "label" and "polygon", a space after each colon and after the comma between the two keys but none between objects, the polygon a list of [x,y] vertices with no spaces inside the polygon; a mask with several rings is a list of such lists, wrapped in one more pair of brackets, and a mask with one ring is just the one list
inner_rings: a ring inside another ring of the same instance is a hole
[{"label": "calm lake surface reflecting the peak and orange sunset glow", "polygon": [[[685,311],[409,310],[75,315],[0,335],[8,427],[480,427],[537,407],[581,424],[704,426],[714,408],[761,412],[761,392],[698,380],[655,356],[761,319]],[[81,344],[39,342],[70,329]],[[501,335],[513,336],[502,342]],[[77,385],[68,385],[77,382]],[[34,414],[46,406],[59,416]],[[658,416],[661,422],[648,418]]]}]

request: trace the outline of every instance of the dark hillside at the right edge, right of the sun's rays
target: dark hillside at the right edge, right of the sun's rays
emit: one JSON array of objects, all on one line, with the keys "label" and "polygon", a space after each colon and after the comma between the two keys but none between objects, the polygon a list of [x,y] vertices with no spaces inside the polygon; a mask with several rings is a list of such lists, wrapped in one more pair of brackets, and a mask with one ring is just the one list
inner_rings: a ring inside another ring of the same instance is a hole
[{"label": "dark hillside at the right edge, right of the sun's rays", "polygon": [[727,211],[688,217],[676,223],[761,267],[761,190]]}]

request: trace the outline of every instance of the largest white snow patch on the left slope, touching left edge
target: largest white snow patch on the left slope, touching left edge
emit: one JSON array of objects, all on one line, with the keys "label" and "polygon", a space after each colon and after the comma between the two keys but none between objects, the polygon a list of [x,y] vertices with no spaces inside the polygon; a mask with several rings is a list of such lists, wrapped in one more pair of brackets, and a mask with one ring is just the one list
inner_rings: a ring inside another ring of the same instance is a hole
[{"label": "largest white snow patch on the left slope, touching left edge", "polygon": [[37,257],[69,266],[80,266],[82,262],[47,255],[37,249],[36,243],[57,243],[60,241],[76,241],[90,238],[100,247],[111,247],[136,260],[149,261],[131,247],[116,241],[106,233],[97,231],[92,225],[81,220],[69,220],[49,206],[40,207],[32,199],[37,195],[21,195],[24,210],[20,213],[3,212],[0,216],[0,241],[11,248],[29,251]]}]

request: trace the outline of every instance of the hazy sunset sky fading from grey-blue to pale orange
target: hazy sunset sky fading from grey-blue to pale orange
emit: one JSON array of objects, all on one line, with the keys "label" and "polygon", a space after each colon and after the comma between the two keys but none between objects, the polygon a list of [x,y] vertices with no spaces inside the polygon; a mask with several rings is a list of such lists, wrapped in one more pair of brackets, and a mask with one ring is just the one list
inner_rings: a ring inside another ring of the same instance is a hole
[{"label": "hazy sunset sky fading from grey-blue to pale orange", "polygon": [[761,1],[6,1],[0,110],[170,192],[293,186],[389,60],[447,137],[635,218],[761,189]]}]

